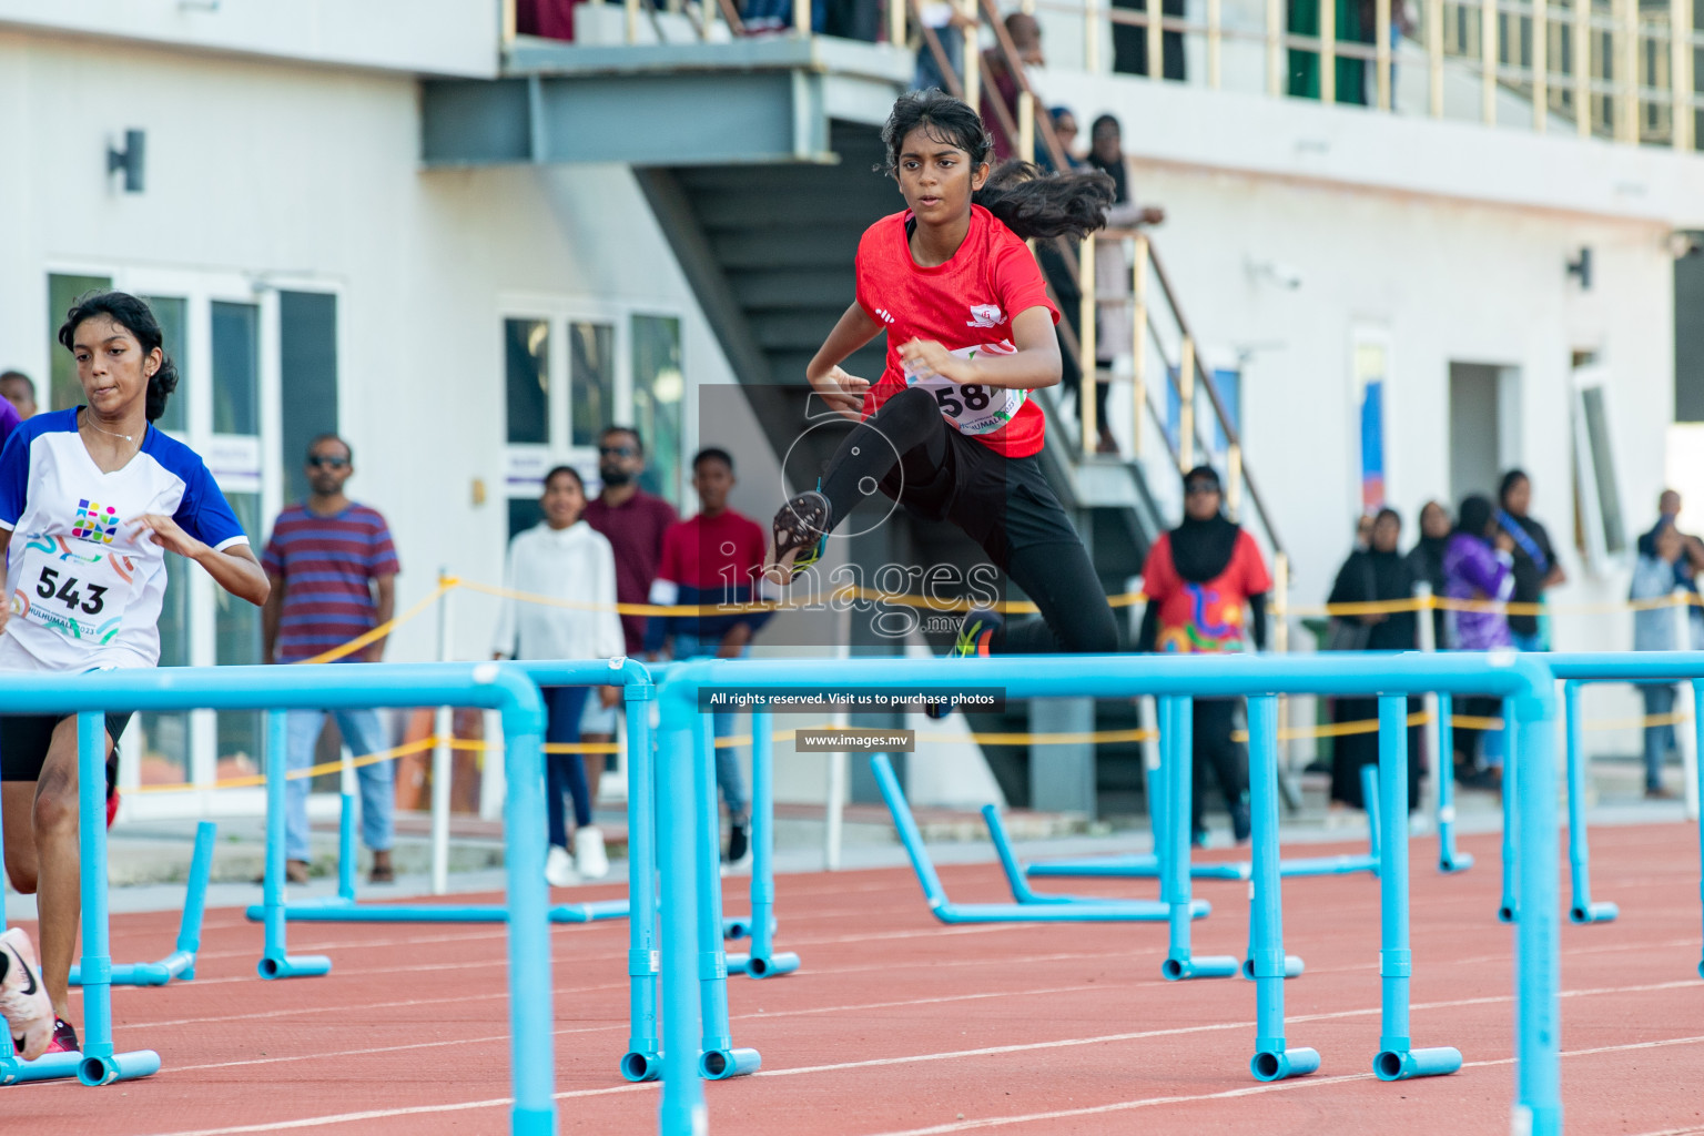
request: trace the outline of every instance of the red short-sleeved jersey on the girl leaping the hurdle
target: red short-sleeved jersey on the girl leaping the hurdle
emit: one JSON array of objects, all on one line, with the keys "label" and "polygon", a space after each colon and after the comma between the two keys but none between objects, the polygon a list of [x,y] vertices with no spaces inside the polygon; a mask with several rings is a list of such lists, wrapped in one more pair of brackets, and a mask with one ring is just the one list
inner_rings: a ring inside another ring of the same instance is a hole
[{"label": "red short-sleeved jersey on the girl leaping the hurdle", "polygon": [[912,339],[934,339],[961,358],[1014,354],[1012,317],[1029,308],[1046,308],[1056,324],[1060,313],[1048,300],[1036,257],[1017,233],[973,204],[970,232],[953,259],[922,267],[905,235],[910,216],[881,218],[864,230],[857,247],[857,303],[888,329],[888,370],[864,397],[864,416],[908,385],[924,387],[959,433],[1012,458],[1038,453],[1046,417],[1028,390],[963,385],[934,375],[907,380],[900,363],[900,347]]}]

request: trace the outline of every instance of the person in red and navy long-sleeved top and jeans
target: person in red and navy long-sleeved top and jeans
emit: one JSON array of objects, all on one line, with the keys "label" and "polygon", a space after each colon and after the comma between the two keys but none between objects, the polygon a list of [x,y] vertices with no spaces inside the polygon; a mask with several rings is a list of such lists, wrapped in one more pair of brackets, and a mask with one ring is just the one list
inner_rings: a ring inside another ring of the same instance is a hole
[{"label": "person in red and navy long-sleeved top and jeans", "polygon": [[[734,487],[734,460],[711,446],[692,458],[692,487],[699,514],[671,525],[663,533],[663,560],[651,584],[651,603],[740,606],[757,598],[763,577],[763,528],[728,508]],[[646,656],[668,652],[675,659],[743,659],[751,652],[751,634],[769,620],[769,611],[651,617],[646,623]],[[734,715],[717,710],[716,736],[734,731]],[[740,863],[750,848],[751,806],[740,754],[733,746],[716,748],[716,783],[728,806],[728,862]]]}]

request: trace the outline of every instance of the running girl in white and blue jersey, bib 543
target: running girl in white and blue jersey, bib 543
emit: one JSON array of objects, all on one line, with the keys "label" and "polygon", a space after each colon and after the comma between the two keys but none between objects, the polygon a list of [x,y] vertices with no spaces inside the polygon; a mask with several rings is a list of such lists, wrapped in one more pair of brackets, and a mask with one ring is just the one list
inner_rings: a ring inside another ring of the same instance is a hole
[{"label": "running girl in white and blue jersey, bib 543", "polygon": [[[201,458],[150,426],[177,370],[148,305],[121,291],[83,296],[60,342],[77,359],[85,405],[37,414],[0,451],[0,594],[10,598],[0,605],[0,671],[157,666],[167,552],[254,605],[266,601],[266,572]],[[128,720],[107,715],[109,777]],[[77,1049],[66,1022],[80,915],[77,794],[75,715],[0,717],[5,867],[14,887],[37,896],[49,1053]],[[0,976],[0,1001],[9,986]],[[12,1030],[36,1047],[31,1029],[14,1020]]]}]

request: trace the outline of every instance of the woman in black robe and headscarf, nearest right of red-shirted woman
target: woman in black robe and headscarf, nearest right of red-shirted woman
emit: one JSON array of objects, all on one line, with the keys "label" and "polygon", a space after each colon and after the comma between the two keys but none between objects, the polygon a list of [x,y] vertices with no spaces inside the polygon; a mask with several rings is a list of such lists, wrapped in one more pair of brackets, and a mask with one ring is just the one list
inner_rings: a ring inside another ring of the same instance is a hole
[{"label": "woman in black robe and headscarf, nearest right of red-shirted woman", "polygon": [[[1402,557],[1402,516],[1396,509],[1380,509],[1373,518],[1368,547],[1356,548],[1338,571],[1327,605],[1339,603],[1404,603],[1414,596],[1414,565]],[[1419,615],[1402,611],[1350,611],[1334,615],[1326,639],[1327,651],[1418,651]],[[1408,700],[1409,714],[1418,714],[1421,700]],[[1338,724],[1367,722],[1379,717],[1377,698],[1334,698],[1331,720]],[[1409,729],[1408,807],[1419,802],[1419,778],[1426,753],[1419,726]],[[1365,809],[1361,800],[1361,766],[1379,763],[1379,734],[1343,734],[1331,743],[1331,809]]]}]

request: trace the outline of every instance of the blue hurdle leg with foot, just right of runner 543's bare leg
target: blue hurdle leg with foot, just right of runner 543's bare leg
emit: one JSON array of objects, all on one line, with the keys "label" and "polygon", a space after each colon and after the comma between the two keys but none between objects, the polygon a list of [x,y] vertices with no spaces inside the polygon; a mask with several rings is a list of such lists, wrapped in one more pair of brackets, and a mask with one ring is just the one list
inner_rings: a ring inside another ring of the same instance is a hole
[{"label": "blue hurdle leg with foot, just right of runner 543's bare leg", "polygon": [[[77,780],[106,785],[106,714],[77,715]],[[112,1051],[112,957],[107,935],[106,794],[77,794],[78,852],[82,855],[83,899],[83,1059],[77,1080],[111,1085],[160,1071],[160,1054],[152,1049]]]}]

